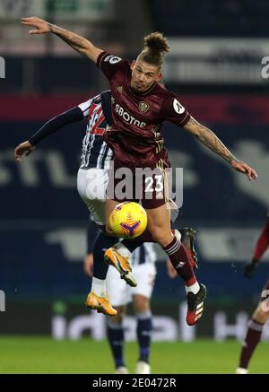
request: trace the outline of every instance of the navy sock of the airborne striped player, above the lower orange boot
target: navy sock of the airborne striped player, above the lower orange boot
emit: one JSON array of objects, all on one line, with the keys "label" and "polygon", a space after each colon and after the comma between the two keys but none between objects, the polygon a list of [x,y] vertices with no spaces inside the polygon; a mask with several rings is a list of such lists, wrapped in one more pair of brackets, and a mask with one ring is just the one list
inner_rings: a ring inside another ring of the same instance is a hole
[{"label": "navy sock of the airborne striped player, above the lower orange boot", "polygon": [[108,273],[108,264],[104,261],[105,251],[118,242],[116,237],[109,237],[100,231],[93,245],[93,276],[105,280]]}]

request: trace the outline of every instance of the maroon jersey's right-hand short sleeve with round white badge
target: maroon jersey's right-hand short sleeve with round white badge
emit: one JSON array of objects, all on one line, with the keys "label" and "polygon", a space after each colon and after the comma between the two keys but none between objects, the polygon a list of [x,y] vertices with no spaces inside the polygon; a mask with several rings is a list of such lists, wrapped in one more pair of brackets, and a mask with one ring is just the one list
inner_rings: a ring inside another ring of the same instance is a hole
[{"label": "maroon jersey's right-hand short sleeve with round white badge", "polygon": [[178,97],[171,93],[162,104],[161,117],[178,126],[185,126],[190,118],[190,114],[181,105]]}]

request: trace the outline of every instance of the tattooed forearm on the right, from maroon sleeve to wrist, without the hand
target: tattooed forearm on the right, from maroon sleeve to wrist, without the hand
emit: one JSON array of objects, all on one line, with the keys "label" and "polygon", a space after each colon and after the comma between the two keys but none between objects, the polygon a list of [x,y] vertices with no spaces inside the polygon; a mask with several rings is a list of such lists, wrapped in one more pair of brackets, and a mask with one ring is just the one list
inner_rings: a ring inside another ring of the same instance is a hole
[{"label": "tattooed forearm on the right, from maroon sleeve to wrist, without the hand", "polygon": [[201,143],[210,148],[213,152],[220,155],[225,161],[229,163],[236,158],[232,153],[221,143],[221,140],[206,126],[199,124],[195,118],[190,118],[187,125],[184,126],[188,132],[195,135]]}]

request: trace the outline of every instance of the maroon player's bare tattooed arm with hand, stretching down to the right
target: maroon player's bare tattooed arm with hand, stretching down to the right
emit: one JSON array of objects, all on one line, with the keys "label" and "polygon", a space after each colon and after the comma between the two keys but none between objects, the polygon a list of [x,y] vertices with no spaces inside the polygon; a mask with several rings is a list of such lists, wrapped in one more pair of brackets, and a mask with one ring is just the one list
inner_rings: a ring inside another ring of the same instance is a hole
[{"label": "maroon player's bare tattooed arm with hand, stretching down to the right", "polygon": [[220,155],[225,161],[228,161],[234,170],[244,173],[247,179],[256,179],[257,174],[254,169],[247,165],[247,163],[236,159],[228,148],[221,143],[221,140],[206,126],[198,123],[195,118],[191,117],[187,124],[184,126],[187,131],[195,135],[201,143],[210,148],[213,152]]}]

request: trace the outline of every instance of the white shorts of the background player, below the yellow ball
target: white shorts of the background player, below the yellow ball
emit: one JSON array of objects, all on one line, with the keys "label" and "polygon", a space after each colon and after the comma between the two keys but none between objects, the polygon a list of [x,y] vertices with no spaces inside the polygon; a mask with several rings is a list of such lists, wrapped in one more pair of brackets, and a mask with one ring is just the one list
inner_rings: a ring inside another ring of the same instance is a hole
[{"label": "white shorts of the background player, below the yellow ball", "polygon": [[132,301],[134,294],[150,299],[154,287],[156,267],[152,263],[133,266],[136,287],[130,287],[120,276],[114,266],[109,266],[107,274],[107,292],[112,306],[123,306]]}]

